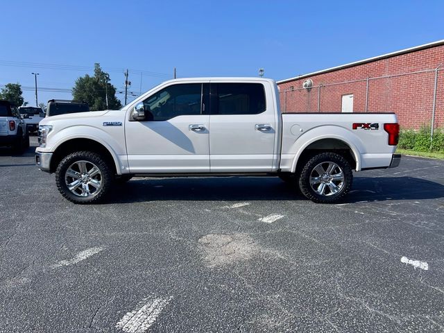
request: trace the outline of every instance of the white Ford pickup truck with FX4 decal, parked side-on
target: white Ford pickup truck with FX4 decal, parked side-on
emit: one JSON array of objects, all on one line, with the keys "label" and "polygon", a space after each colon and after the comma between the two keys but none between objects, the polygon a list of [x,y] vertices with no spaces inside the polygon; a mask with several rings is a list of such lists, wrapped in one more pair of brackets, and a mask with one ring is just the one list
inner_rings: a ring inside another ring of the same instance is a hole
[{"label": "white Ford pickup truck with FX4 decal, parked side-on", "polygon": [[132,176],[280,176],[333,203],[352,170],[397,167],[393,113],[281,114],[265,78],[170,80],[121,110],[40,121],[35,162],[62,196],[96,203]]}]

